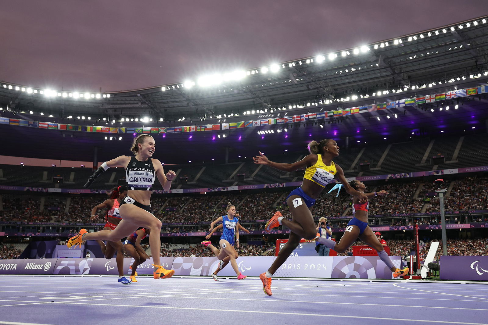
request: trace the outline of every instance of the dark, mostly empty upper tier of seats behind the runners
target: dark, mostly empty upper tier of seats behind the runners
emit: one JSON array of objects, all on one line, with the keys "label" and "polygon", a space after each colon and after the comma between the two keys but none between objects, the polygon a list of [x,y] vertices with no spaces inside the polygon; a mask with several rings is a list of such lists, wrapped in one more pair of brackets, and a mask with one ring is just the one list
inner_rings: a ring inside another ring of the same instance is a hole
[{"label": "dark, mostly empty upper tier of seats behind the runners", "polygon": [[[420,138],[413,142],[393,144],[371,144],[363,148],[341,151],[334,162],[345,171],[346,177],[407,173],[458,167],[484,166],[488,163],[488,134],[471,134],[462,137]],[[293,163],[308,154],[286,153],[268,158]],[[433,157],[441,158],[437,162]],[[268,166],[252,163],[248,157],[237,163],[188,163],[166,165],[165,170],[177,173],[172,189],[226,187],[250,184],[297,182],[303,178],[303,171],[283,172]],[[444,161],[444,163],[442,163]],[[361,164],[368,164],[369,170],[362,171]],[[92,174],[91,168],[36,167],[27,165],[0,165],[0,185],[30,187],[82,188]],[[59,181],[62,178],[62,182]],[[59,183],[58,183],[59,181]],[[110,168],[91,186],[92,189],[110,189],[125,183],[123,168]],[[155,183],[154,189],[161,190]]]}]

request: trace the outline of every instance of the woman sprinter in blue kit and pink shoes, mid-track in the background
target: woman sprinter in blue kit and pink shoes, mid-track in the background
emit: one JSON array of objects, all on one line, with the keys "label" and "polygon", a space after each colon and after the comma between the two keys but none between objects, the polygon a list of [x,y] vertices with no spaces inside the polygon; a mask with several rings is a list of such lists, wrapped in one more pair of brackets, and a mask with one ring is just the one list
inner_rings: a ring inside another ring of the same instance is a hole
[{"label": "woman sprinter in blue kit and pink shoes, mid-track in the background", "polygon": [[[217,258],[222,261],[225,257],[230,258],[230,264],[237,274],[237,280],[245,279],[246,276],[239,272],[239,267],[236,263],[237,252],[234,248],[234,236],[236,237],[236,246],[239,248],[239,220],[235,217],[236,207],[232,203],[227,204],[227,215],[217,218],[216,221],[222,220],[223,232],[220,237],[219,244],[222,247],[219,251],[217,247],[212,245],[210,241],[203,241],[205,247],[209,247]],[[215,278],[214,278],[215,279]]]}]

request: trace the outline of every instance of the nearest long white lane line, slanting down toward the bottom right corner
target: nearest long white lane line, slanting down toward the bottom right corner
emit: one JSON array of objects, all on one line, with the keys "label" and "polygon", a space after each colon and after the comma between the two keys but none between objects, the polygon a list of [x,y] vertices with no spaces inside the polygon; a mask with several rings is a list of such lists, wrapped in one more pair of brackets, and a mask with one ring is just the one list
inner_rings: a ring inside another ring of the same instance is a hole
[{"label": "nearest long white lane line, slanting down toward the bottom right corner", "polygon": [[[71,303],[71,302],[59,302],[55,304],[73,304],[73,305],[95,305],[95,304],[87,304],[87,303]],[[237,310],[237,309],[212,309],[212,308],[189,308],[189,307],[168,307],[168,306],[129,306],[129,305],[115,305],[110,304],[111,306],[120,306],[120,307],[135,307],[135,308],[161,308],[161,309],[183,309],[183,310],[204,310],[204,311],[227,311],[233,313],[255,313],[255,314],[277,314],[277,315],[293,315],[293,316],[317,316],[324,318],[324,314],[310,314],[310,313],[291,313],[291,312],[278,312],[278,311],[258,311],[258,310]],[[362,317],[362,316],[349,316],[349,315],[327,315],[327,317],[336,317],[336,318],[354,318],[354,319],[378,319],[378,320],[387,320],[387,321],[396,321],[396,322],[420,322],[420,323],[435,323],[435,324],[466,324],[466,325],[486,325],[484,323],[463,323],[463,322],[449,322],[449,321],[429,321],[425,319],[405,319],[405,318],[386,318],[386,317]]]}]

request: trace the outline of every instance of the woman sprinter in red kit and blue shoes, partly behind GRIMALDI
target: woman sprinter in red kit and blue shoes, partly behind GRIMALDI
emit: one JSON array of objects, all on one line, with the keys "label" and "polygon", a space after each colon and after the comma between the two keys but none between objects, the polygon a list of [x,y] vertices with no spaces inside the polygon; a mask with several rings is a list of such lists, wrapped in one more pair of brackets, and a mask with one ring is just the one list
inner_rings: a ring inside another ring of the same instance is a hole
[{"label": "woman sprinter in red kit and blue shoes, partly behind GRIMALDI", "polygon": [[[94,206],[91,211],[90,220],[98,219],[97,211],[103,208],[107,208],[107,214],[105,215],[105,226],[103,226],[104,230],[114,230],[117,225],[120,223],[121,215],[119,213],[119,205],[123,199],[127,196],[127,186],[119,186],[112,189],[112,193],[110,194],[110,198],[108,200],[103,201],[97,206]],[[124,277],[123,274],[123,245],[121,241],[110,242],[107,241],[107,245],[102,241],[97,241],[102,249],[102,253],[107,260],[110,260],[113,256],[115,251],[117,251],[117,270],[119,271],[119,283],[122,284],[130,284],[130,281]]]}]

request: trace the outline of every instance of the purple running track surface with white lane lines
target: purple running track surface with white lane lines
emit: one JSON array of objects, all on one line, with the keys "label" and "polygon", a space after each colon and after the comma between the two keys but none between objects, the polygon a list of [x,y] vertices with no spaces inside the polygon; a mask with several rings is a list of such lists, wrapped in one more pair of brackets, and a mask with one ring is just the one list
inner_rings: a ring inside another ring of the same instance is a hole
[{"label": "purple running track surface with white lane lines", "polygon": [[[0,324],[487,324],[488,285],[0,277]],[[15,322],[15,323],[14,323]]]}]

